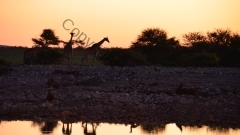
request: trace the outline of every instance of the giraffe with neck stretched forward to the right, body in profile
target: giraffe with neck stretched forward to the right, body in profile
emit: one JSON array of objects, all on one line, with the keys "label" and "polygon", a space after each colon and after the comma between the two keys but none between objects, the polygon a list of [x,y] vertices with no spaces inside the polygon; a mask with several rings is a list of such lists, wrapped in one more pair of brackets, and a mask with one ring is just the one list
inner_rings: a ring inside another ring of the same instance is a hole
[{"label": "giraffe with neck stretched forward to the right, body in profile", "polygon": [[[107,41],[108,43],[110,43],[108,40],[108,37],[105,37],[98,43],[95,43],[91,47],[86,48],[84,50],[84,56],[82,58],[81,64],[83,63],[84,59],[85,59],[85,61],[88,62],[89,55],[93,55],[93,61],[94,61],[94,59],[96,58],[97,53],[100,51],[101,45],[103,44],[104,41]],[[93,65],[93,61],[92,61],[92,65]]]}]

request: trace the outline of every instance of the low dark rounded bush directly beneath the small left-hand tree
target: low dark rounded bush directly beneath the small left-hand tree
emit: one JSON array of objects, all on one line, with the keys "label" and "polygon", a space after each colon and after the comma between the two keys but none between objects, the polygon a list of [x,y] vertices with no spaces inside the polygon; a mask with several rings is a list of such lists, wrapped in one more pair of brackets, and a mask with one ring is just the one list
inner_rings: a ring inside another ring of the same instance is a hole
[{"label": "low dark rounded bush directly beneath the small left-hand tree", "polygon": [[60,64],[63,54],[57,49],[46,48],[36,53],[37,64]]}]

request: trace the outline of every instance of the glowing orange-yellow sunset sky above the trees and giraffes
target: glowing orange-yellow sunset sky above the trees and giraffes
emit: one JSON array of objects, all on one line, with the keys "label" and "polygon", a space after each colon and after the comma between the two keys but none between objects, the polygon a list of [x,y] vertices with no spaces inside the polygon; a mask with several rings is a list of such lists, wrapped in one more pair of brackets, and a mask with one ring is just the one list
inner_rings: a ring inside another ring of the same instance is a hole
[{"label": "glowing orange-yellow sunset sky above the trees and giraffes", "polygon": [[[31,38],[46,28],[66,41],[74,28],[84,32],[89,43],[108,36],[110,43],[102,47],[129,47],[151,27],[177,39],[215,28],[240,32],[240,0],[1,0],[0,5],[2,45],[31,47]],[[74,22],[66,23],[69,31],[63,28],[66,19]]]}]

